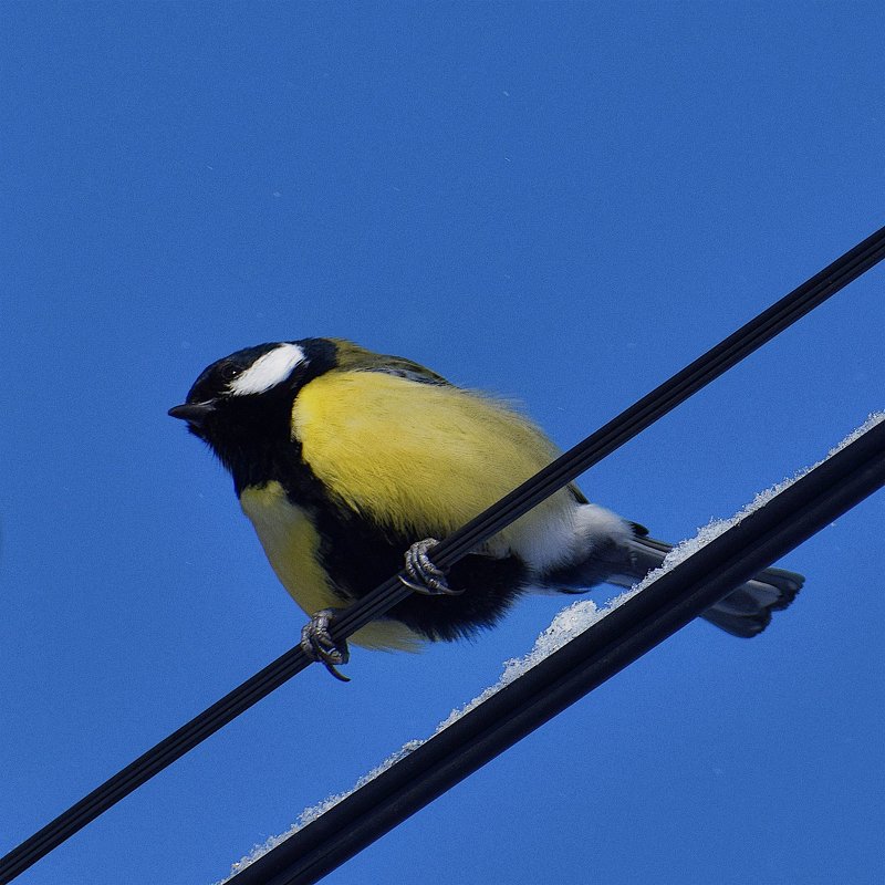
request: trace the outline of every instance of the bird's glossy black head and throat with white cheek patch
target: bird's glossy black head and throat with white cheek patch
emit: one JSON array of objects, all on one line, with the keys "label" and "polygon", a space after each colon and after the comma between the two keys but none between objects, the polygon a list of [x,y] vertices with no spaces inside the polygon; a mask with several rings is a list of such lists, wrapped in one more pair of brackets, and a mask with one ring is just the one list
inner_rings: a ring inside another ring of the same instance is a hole
[{"label": "bird's glossy black head and throat with white cheek patch", "polygon": [[335,344],[326,339],[246,347],[205,368],[169,415],[209,444],[239,491],[277,478],[274,465],[291,460],[292,403],[335,364]]}]

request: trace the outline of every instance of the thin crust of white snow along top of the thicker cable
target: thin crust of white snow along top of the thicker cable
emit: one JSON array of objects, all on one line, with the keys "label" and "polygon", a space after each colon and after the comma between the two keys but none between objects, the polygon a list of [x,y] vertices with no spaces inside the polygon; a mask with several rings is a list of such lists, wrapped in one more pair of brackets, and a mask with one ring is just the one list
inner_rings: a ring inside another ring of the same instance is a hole
[{"label": "thin crust of white snow along top of the thicker cable", "polygon": [[[885,412],[878,412],[870,415],[870,417],[861,425],[856,430],[850,434],[845,439],[842,440],[835,448],[831,449],[827,458],[832,458],[833,455],[844,449],[851,442],[854,442],[855,439],[858,439],[863,436],[867,430],[871,430],[877,424],[885,421]],[[719,520],[711,520],[707,525],[701,528],[698,533],[686,541],[683,541],[680,544],[675,546],[666,556],[664,562],[662,563],[659,569],[655,569],[654,571],[649,572],[639,583],[633,586],[631,590],[618,594],[614,598],[610,600],[604,605],[597,605],[592,600],[581,600],[580,602],[572,603],[571,605],[563,608],[551,622],[550,626],[544,629],[543,633],[535,639],[534,646],[532,650],[529,652],[527,655],[520,658],[510,658],[506,660],[503,664],[503,671],[499,677],[498,681],[494,685],[489,686],[485,689],[481,694],[477,695],[472,700],[465,704],[462,707],[458,707],[454,709],[436,728],[434,737],[438,735],[444,729],[448,728],[454,722],[458,721],[462,716],[470,712],[470,710],[478,707],[483,701],[488,700],[492,695],[497,695],[506,686],[510,685],[514,679],[518,679],[522,676],[527,670],[531,669],[544,658],[552,655],[558,649],[562,648],[568,642],[573,639],[579,634],[583,633],[584,631],[592,627],[598,621],[602,621],[603,617],[611,614],[615,608],[621,607],[627,600],[635,596],[637,593],[641,593],[645,587],[656,581],[663,573],[668,572],[678,563],[683,562],[684,560],[688,559],[691,554],[696,553],[700,548],[705,546],[706,544],[710,543],[715,538],[718,538],[722,532],[730,529],[732,525],[737,525],[741,520],[746,519],[750,513],[758,510],[760,507],[767,504],[772,498],[777,494],[780,494],[784,489],[789,488],[793,485],[798,479],[809,473],[815,467],[823,464],[826,460],[825,458],[818,461],[818,464],[809,467],[804,470],[799,471],[795,476],[784,479],[783,481],[772,486],[770,489],[766,489],[762,492],[759,492],[753,500],[747,504],[742,510],[736,513],[730,519],[719,519]],[[405,743],[400,749],[398,749],[395,753],[391,754],[385,759],[379,766],[374,768],[368,773],[364,774],[360,780],[351,788],[342,793],[335,793],[334,795],[330,795],[324,799],[322,802],[319,802],[315,805],[311,805],[310,808],[304,809],[304,811],[299,814],[298,820],[292,826],[289,827],[284,833],[281,833],[277,836],[271,836],[267,842],[262,845],[256,845],[256,847],[251,851],[250,854],[242,857],[240,861],[237,861],[230,870],[230,876],[221,882],[216,883],[216,885],[223,885],[225,882],[228,882],[230,877],[239,873],[240,871],[244,870],[250,864],[254,863],[259,857],[267,854],[272,848],[277,847],[282,842],[285,842],[287,839],[294,835],[299,832],[299,830],[304,829],[309,823],[316,820],[320,815],[324,814],[330,809],[337,805],[339,802],[346,799],[351,793],[358,790],[361,787],[364,787],[369,781],[373,781],[379,774],[385,772],[388,768],[396,764],[400,759],[404,759],[409,753],[414,752],[418,747],[420,747],[425,741],[429,740],[430,738],[417,739],[412,740]]]}]

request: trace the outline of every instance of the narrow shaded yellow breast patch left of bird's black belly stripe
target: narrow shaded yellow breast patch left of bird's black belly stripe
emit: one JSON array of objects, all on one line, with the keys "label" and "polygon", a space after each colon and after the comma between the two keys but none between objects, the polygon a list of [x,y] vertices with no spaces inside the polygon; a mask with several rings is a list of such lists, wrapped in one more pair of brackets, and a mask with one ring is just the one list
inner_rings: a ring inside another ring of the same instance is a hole
[{"label": "narrow shaded yellow breast patch left of bird's black belly stripe", "polygon": [[[279,482],[243,489],[240,506],[254,525],[277,577],[308,615],[344,605],[317,560],[316,529],[308,514],[289,501]],[[420,637],[398,622],[378,621],[357,631],[350,642],[368,648],[414,650]]]}]

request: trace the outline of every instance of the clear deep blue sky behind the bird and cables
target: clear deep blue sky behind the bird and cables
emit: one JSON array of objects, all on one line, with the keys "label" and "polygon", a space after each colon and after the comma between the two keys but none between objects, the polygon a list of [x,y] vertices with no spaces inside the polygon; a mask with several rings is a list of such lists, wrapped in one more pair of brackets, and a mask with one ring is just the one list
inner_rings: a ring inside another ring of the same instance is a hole
[{"label": "clear deep blue sky behind the bird and cables", "polygon": [[[0,33],[0,853],[294,644],[166,416],[241,346],[352,337],[562,446],[885,220],[881,4],[15,3]],[[874,270],[582,480],[679,540],[882,408]],[[885,876],[879,493],[329,877]],[[604,593],[601,594],[604,597]],[[424,737],[558,601],[302,674],[21,877],[202,885]]]}]

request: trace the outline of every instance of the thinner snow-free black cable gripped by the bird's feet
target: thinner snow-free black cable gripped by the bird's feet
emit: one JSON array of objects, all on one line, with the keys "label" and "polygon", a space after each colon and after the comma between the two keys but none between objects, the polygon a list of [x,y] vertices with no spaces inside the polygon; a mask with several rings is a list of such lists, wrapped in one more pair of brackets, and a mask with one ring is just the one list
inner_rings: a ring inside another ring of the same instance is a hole
[{"label": "thinner snow-free black cable gripped by the bird's feet", "polygon": [[[514,489],[497,504],[444,539],[434,550],[434,561],[444,568],[457,562],[470,550],[528,512],[544,498],[565,486],[840,289],[857,279],[883,258],[885,258],[885,228],[881,228],[845,252],[820,273],[589,436],[583,442],[566,451],[535,477]],[[335,622],[333,635],[336,638],[346,638],[360,627],[384,614],[409,593],[410,591],[403,586],[397,576],[391,577],[350,606]],[[11,882],[87,823],[115,805],[121,799],[279,688],[311,663],[300,647],[290,649],[143,753],[0,858],[0,885]]]}]

